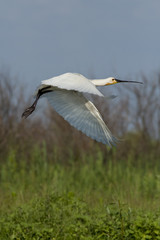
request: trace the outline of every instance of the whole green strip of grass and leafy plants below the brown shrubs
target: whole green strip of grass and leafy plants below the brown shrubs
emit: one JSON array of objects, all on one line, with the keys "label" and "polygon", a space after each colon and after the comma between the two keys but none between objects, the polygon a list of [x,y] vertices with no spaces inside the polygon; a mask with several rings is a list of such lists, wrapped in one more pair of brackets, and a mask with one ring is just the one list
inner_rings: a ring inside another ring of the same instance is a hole
[{"label": "whole green strip of grass and leafy plants below the brown shrubs", "polygon": [[0,239],[160,239],[158,159],[18,156],[0,168]]}]

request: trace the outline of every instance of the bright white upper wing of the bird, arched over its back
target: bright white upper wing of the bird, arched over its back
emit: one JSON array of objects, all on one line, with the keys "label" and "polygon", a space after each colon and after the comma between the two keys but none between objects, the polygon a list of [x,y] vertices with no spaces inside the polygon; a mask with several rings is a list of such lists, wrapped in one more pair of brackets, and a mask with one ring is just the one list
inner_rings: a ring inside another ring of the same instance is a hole
[{"label": "bright white upper wing of the bird, arched over its back", "polygon": [[42,85],[50,85],[61,89],[75,90],[103,97],[103,94],[96,88],[96,86],[79,73],[64,73],[57,77],[43,80]]}]

